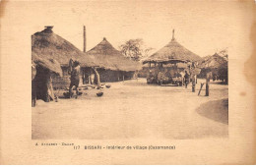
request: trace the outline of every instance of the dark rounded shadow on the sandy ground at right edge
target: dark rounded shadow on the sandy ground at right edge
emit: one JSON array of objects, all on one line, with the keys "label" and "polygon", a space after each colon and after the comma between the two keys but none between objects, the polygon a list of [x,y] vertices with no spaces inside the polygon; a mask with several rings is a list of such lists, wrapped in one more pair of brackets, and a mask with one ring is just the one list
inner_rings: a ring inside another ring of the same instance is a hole
[{"label": "dark rounded shadow on the sandy ground at right edge", "polygon": [[228,125],[228,99],[213,100],[196,109],[201,116]]}]

